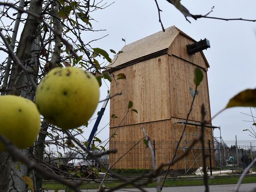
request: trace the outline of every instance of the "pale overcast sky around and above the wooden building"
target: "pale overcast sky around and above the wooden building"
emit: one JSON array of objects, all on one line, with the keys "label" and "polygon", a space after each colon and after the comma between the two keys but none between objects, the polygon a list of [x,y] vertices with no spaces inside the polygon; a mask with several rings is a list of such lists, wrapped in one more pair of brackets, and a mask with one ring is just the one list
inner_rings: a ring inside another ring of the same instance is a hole
[{"label": "pale overcast sky around and above the wooden building", "polygon": [[[203,52],[210,64],[208,82],[211,116],[223,109],[238,92],[256,87],[256,23],[205,18],[195,21],[189,18],[192,22],[190,24],[166,0],[158,0],[158,3],[163,10],[161,17],[165,28],[175,25],[196,41],[204,38],[210,41],[210,49]],[[255,0],[182,0],[182,3],[192,14],[204,15],[214,6],[209,15],[211,17],[256,19]],[[109,8],[95,12],[93,17],[97,20],[93,22],[93,26],[106,31],[90,34],[88,38],[109,34],[93,44],[94,47],[105,50],[120,50],[124,46],[122,38],[128,44],[161,31],[154,0],[116,0]],[[101,98],[105,96],[105,91],[102,91]],[[102,103],[99,104],[101,105]],[[252,118],[241,112],[248,114],[250,110],[227,109],[212,120],[213,125],[220,125],[223,140],[235,140],[235,135],[238,140],[255,140],[248,136],[248,132],[242,131],[252,125],[244,120],[250,121]],[[108,121],[109,108],[101,127]],[[219,136],[219,130],[215,130],[214,135]],[[101,138],[107,136],[108,128],[100,134]]]}]

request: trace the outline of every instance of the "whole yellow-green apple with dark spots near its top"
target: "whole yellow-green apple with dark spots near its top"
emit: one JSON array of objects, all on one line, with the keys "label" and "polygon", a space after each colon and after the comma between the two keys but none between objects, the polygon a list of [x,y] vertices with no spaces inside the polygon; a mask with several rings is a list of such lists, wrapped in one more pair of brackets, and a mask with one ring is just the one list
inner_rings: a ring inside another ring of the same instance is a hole
[{"label": "whole yellow-green apple with dark spots near its top", "polygon": [[54,68],[40,82],[35,103],[45,119],[64,130],[84,125],[100,97],[96,78],[81,68]]}]

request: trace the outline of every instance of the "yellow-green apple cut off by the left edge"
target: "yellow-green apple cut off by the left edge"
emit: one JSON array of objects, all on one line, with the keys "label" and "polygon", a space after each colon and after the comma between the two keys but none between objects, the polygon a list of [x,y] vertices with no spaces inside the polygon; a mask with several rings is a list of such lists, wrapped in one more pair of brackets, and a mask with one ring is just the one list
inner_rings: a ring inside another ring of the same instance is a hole
[{"label": "yellow-green apple cut off by the left edge", "polygon": [[[40,131],[40,114],[31,100],[14,96],[0,96],[0,134],[18,148],[33,145]],[[0,142],[0,150],[4,150]]]}]

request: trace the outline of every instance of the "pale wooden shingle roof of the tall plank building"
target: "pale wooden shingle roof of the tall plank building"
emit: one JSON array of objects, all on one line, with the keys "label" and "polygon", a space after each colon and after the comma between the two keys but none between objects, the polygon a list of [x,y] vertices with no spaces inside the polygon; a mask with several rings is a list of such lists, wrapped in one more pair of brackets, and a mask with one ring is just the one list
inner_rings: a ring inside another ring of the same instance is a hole
[{"label": "pale wooden shingle roof of the tall plank building", "polygon": [[[107,68],[111,71],[116,71],[128,65],[146,60],[146,58],[151,55],[155,54],[155,56],[158,56],[164,54],[164,51],[166,53],[179,33],[189,37],[177,27],[171,26],[165,29],[165,32],[159,31],[136,42],[125,45],[121,49],[123,52],[115,56]],[[192,39],[191,37],[189,38]]]}]

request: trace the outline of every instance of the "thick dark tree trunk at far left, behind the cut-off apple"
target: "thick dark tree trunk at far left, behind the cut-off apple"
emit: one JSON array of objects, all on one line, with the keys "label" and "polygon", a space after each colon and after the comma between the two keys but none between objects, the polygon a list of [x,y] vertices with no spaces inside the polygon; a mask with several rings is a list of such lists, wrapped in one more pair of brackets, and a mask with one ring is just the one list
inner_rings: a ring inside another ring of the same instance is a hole
[{"label": "thick dark tree trunk at far left, behind the cut-off apple", "polygon": [[[42,3],[42,0],[31,0],[29,11],[40,14],[42,12]],[[11,69],[9,88],[29,85],[31,83],[28,81],[27,75],[31,75],[32,79],[35,79],[37,76],[38,57],[37,52],[33,51],[32,54],[32,50],[34,49],[38,51],[38,49],[36,49],[38,42],[35,42],[35,38],[38,36],[38,26],[38,20],[35,17],[28,15],[18,43],[17,56],[21,63],[24,65],[26,64],[27,70],[31,73],[26,74],[20,67],[18,67],[18,64],[14,64]],[[36,41],[38,41],[38,39]],[[32,91],[31,87],[28,87],[18,92],[11,92],[11,94],[20,95],[27,99],[34,100],[35,93]],[[28,155],[28,150],[22,150],[22,152]],[[27,176],[26,165],[12,162],[11,171],[8,169],[5,172],[1,172],[0,178],[8,179],[7,175],[11,176],[11,180],[9,180],[9,190],[15,189],[16,191],[26,191],[26,183],[22,180],[22,176]]]}]

